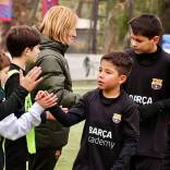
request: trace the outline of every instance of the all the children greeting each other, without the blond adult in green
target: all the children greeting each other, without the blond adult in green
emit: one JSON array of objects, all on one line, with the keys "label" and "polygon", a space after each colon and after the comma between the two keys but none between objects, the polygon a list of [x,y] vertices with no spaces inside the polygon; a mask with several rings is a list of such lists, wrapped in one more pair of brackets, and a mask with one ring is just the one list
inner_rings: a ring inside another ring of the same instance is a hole
[{"label": "all the children greeting each other, without the blond adult in green", "polygon": [[[7,37],[12,62],[4,81],[7,100],[0,104],[0,135],[15,141],[5,139],[5,169],[26,169],[31,141],[24,135],[41,120],[56,119],[64,126],[85,120],[73,170],[168,170],[170,56],[159,46],[161,34],[156,15],[132,19],[132,49],[104,54],[98,87],[65,113],[57,105],[57,96],[42,90],[32,106],[28,93],[44,81],[39,78],[44,68],[36,66],[26,74],[25,66],[36,60],[40,38],[32,27],[12,27]],[[2,153],[0,158],[2,166]]]}]

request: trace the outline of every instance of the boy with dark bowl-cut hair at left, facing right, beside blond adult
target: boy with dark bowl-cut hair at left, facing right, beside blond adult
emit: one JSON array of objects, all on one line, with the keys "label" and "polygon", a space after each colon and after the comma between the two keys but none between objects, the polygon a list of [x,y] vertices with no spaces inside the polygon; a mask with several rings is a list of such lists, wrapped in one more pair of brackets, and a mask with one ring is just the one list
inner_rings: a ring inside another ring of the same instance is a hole
[{"label": "boy with dark bowl-cut hair at left, facing right, beside blond adult", "polygon": [[[9,75],[11,75],[4,86],[7,99],[20,85],[19,71],[22,70],[25,74],[26,64],[36,60],[39,53],[39,35],[26,25],[14,26],[9,31],[7,48],[12,56],[12,62],[9,69]],[[22,109],[14,112],[17,118],[25,112],[26,105],[31,105],[31,99],[29,102],[22,101]],[[27,146],[31,146],[28,144],[25,136],[14,142],[5,141],[5,170],[26,169]]]}]

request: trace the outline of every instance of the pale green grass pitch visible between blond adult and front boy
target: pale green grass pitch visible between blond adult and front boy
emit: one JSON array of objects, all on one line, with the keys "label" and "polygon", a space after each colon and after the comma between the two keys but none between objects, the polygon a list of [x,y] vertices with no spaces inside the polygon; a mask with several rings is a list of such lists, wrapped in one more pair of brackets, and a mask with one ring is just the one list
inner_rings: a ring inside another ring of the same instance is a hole
[{"label": "pale green grass pitch visible between blond adult and front boy", "polygon": [[[82,95],[95,87],[96,82],[94,81],[73,82],[73,90]],[[83,125],[84,122],[81,122],[71,126],[68,145],[63,147],[62,155],[54,170],[72,170],[72,165],[80,148]]]}]

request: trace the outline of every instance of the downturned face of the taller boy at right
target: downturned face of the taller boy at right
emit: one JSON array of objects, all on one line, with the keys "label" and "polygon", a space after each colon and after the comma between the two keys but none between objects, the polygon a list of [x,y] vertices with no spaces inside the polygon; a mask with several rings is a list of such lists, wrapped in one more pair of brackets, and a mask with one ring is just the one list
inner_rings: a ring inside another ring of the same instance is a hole
[{"label": "downturned face of the taller boy at right", "polygon": [[131,32],[131,46],[136,53],[151,53],[157,50],[157,44],[159,42],[159,36],[153,38],[145,37],[143,35],[134,35]]}]

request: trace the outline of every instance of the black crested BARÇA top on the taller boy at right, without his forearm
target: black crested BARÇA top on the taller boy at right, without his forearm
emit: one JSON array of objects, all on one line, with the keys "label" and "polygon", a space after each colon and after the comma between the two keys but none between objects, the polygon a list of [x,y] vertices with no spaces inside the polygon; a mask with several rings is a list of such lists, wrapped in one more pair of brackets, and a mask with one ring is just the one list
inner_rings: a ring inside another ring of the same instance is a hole
[{"label": "black crested BAR\u00c7A top on the taller boy at right, without his forearm", "polygon": [[[136,54],[134,50],[126,52],[134,59],[131,75],[125,83],[130,97],[141,106],[169,98],[170,56],[160,47],[154,53]],[[137,155],[162,158],[167,143],[168,113],[149,117],[149,112],[142,112],[141,118]]]}]

